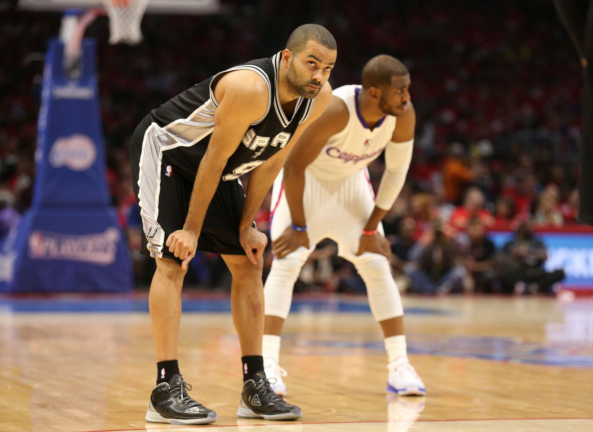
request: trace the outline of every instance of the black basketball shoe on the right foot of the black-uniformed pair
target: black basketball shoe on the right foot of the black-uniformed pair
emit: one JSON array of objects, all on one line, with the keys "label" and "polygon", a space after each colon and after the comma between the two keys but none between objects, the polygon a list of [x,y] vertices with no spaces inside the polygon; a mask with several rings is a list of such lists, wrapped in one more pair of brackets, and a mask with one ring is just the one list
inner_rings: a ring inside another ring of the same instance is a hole
[{"label": "black basketball shoe on the right foot of the black-uniformed pair", "polygon": [[264,420],[297,420],[302,417],[302,412],[301,408],[287,404],[276,395],[262,370],[244,383],[237,415]]}]

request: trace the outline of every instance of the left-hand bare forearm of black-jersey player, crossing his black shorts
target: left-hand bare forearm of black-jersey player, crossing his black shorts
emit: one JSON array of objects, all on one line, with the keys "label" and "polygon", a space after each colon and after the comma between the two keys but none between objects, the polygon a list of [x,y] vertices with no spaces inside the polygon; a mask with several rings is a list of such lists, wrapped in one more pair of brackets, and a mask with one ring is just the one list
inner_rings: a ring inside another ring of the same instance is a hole
[{"label": "left-hand bare forearm of black-jersey player, crossing his black shorts", "polygon": [[197,169],[196,180],[193,183],[192,197],[189,201],[189,210],[183,229],[195,232],[197,235],[202,231],[202,223],[206,216],[206,210],[208,210],[210,201],[221,179],[222,170],[226,164],[226,159],[217,158],[216,156],[212,156],[212,153],[206,151]]}]

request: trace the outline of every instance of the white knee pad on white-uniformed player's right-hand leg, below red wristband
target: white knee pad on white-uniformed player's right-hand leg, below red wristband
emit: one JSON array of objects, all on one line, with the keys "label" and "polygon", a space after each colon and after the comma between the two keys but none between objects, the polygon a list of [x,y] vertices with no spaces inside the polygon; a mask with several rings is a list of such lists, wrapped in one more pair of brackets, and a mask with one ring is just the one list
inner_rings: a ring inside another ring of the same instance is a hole
[{"label": "white knee pad on white-uniformed player's right-hand leg, below red wristband", "polygon": [[352,264],[365,281],[369,306],[378,322],[404,314],[400,291],[391,276],[391,265],[387,258],[366,252],[356,257]]}]

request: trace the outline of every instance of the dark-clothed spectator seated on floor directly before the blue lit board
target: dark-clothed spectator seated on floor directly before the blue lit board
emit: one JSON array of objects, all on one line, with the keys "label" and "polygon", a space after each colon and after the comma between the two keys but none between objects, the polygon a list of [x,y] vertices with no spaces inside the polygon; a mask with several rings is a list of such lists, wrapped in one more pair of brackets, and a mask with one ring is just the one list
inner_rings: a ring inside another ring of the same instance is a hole
[{"label": "dark-clothed spectator seated on floor directly before the blue lit board", "polygon": [[546,271],[546,260],[546,245],[534,235],[530,222],[522,222],[515,239],[502,249],[499,263],[502,292],[551,293],[554,283],[562,281],[565,274],[563,270]]}]

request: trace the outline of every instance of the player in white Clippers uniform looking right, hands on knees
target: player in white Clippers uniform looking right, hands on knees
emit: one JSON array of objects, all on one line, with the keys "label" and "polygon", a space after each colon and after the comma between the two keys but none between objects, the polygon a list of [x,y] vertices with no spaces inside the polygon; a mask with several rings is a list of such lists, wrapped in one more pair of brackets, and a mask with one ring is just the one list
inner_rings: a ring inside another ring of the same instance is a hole
[{"label": "player in white Clippers uniform looking right, hands on knees", "polygon": [[[303,133],[274,183],[272,246],[275,260],[266,280],[263,355],[272,388],[286,395],[278,365],[280,331],[292,289],[315,244],[337,242],[339,255],[365,281],[369,304],[385,335],[389,357],[387,390],[424,395],[410,365],[403,334],[403,307],[389,263],[391,249],[381,219],[393,206],[412,159],[416,114],[410,75],[399,60],[373,57],[362,70],[362,86],[333,91],[329,107]],[[397,119],[397,124],[396,124]],[[366,165],[385,150],[385,171],[374,200]]]}]

